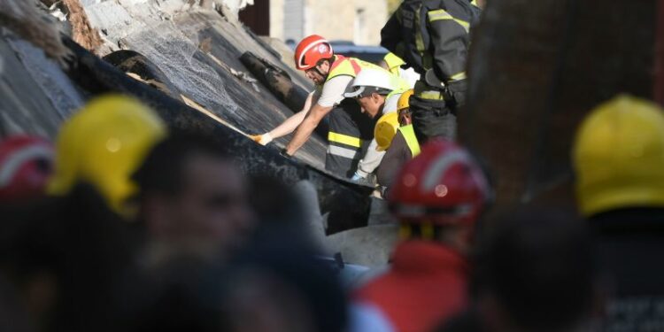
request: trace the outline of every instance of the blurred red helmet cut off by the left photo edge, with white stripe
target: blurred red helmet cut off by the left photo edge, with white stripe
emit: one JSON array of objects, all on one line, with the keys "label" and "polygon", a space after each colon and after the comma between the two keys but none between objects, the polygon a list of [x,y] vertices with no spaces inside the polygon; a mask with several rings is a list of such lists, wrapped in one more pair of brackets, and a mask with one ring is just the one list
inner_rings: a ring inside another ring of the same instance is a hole
[{"label": "blurred red helmet cut off by the left photo edge, with white stripe", "polygon": [[35,136],[0,142],[0,201],[39,197],[53,170],[53,145]]}]

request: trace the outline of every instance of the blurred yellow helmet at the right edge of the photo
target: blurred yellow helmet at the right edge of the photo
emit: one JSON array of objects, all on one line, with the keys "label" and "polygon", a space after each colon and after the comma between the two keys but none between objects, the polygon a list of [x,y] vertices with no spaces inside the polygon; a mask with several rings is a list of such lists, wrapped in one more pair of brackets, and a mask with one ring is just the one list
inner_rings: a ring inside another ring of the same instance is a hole
[{"label": "blurred yellow helmet at the right edge of the photo", "polygon": [[664,113],[628,96],[600,104],[576,135],[573,160],[584,215],[664,206]]}]

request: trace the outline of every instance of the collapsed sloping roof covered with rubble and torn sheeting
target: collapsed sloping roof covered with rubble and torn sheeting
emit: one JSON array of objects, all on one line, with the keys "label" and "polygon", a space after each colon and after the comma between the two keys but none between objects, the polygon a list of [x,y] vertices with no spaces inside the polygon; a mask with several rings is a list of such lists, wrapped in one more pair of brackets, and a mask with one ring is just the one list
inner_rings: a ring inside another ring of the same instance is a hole
[{"label": "collapsed sloping roof covered with rubble and torn sheeting", "polygon": [[[313,89],[310,83],[228,8],[194,3],[66,0],[59,4],[64,7],[51,6],[55,16],[68,19],[60,28],[90,49],[65,36],[61,45],[68,56],[62,51],[44,53],[42,43],[31,43],[49,36],[45,32],[52,36],[50,25],[28,23],[32,30],[20,31],[0,16],[8,28],[0,37],[0,134],[53,138],[90,97],[126,93],[150,104],[171,127],[209,133],[234,147],[248,174],[270,174],[290,183],[312,181],[322,212],[330,212],[330,233],[366,225],[371,189],[322,171],[325,144],[320,136],[312,136],[297,160],[278,153],[287,138],[263,147],[246,137],[264,133],[293,114],[297,102],[289,98],[305,96]],[[8,6],[12,1],[0,0],[0,7]],[[19,21],[43,19],[34,8],[20,6],[24,8],[14,13]],[[99,41],[90,42],[96,38],[89,34],[97,34]],[[244,58],[250,61],[244,62],[254,67],[249,69],[269,71],[269,77],[279,80],[257,81],[240,59],[247,51],[251,53]],[[275,96],[270,89],[286,92]]]}]

